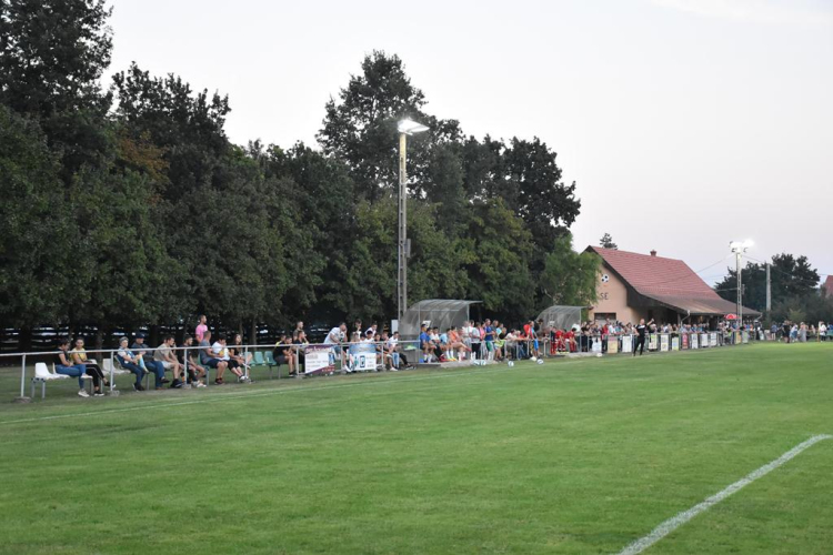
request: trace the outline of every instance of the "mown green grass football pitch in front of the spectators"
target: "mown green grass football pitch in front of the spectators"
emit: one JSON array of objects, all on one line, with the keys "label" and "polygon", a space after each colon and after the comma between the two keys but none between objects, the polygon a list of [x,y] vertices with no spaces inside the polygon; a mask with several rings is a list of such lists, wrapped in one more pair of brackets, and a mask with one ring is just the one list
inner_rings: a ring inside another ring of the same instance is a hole
[{"label": "mown green grass football pitch in front of the spectators", "polygon": [[[52,385],[0,405],[0,553],[618,553],[833,433],[832,361],[833,343],[765,344],[100,400]],[[833,553],[832,471],[824,441],[646,553]]]}]

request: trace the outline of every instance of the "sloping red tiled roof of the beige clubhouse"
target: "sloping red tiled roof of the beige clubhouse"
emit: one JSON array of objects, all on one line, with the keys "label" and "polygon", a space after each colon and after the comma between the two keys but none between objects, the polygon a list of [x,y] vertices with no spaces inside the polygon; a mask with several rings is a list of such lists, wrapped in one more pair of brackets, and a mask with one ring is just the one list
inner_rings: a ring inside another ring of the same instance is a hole
[{"label": "sloping red tiled roof of the beige clubhouse", "polygon": [[[628,285],[643,296],[691,314],[730,314],[735,303],[722,299],[682,260],[589,246]],[[745,314],[760,315],[743,307]]]}]

